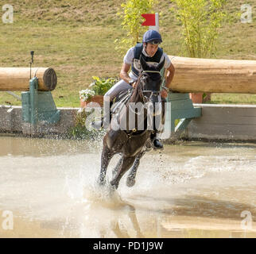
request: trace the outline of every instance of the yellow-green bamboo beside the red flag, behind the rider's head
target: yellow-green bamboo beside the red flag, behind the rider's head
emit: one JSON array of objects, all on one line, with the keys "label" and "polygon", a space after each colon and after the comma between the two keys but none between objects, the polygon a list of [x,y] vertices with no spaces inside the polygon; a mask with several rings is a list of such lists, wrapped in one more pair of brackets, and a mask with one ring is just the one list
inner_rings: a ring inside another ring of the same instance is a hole
[{"label": "yellow-green bamboo beside the red flag, behind the rider's head", "polygon": [[153,13],[153,6],[157,0],[126,0],[121,4],[122,12],[118,16],[122,19],[122,29],[126,30],[127,38],[114,40],[115,50],[123,55],[128,48],[133,47],[145,33],[147,27],[142,26],[143,13]]}]

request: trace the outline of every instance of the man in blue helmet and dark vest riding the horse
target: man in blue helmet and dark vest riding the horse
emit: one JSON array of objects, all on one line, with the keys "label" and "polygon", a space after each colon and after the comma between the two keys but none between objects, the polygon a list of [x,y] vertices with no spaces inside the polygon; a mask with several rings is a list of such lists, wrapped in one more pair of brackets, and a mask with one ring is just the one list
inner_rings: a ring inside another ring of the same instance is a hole
[{"label": "man in blue helmet and dark vest riding the horse", "polygon": [[[120,71],[121,80],[111,87],[111,89],[104,95],[105,103],[112,102],[120,91],[129,90],[131,86],[134,87],[138,75],[142,71],[139,60],[141,55],[148,64],[159,64],[162,60],[165,60],[164,67],[167,70],[167,74],[165,75],[165,87],[161,90],[161,97],[166,98],[168,96],[169,86],[173,80],[175,69],[169,60],[169,57],[163,52],[162,48],[158,47],[161,42],[161,34],[150,29],[144,33],[142,44],[137,44],[135,47],[128,50],[126,56],[124,56],[122,69]],[[129,74],[128,71],[130,71]],[[101,122],[101,125],[103,125],[104,121],[107,121],[107,115],[109,115],[109,108],[104,106],[104,119]],[[153,140],[154,148],[163,148],[163,144],[161,144],[161,141],[158,139],[157,133],[151,138]]]}]

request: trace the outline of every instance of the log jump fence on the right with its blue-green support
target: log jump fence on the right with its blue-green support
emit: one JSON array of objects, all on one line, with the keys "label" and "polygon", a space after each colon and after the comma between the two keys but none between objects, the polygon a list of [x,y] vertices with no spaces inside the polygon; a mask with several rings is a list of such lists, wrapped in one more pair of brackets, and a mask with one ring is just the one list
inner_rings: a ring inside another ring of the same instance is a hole
[{"label": "log jump fence on the right with its blue-green support", "polygon": [[[256,94],[255,60],[215,60],[169,56],[175,67],[171,83],[165,130],[167,137],[179,135],[189,122],[202,114],[189,93]],[[176,119],[180,119],[175,126]],[[163,137],[165,138],[165,137]]]}]

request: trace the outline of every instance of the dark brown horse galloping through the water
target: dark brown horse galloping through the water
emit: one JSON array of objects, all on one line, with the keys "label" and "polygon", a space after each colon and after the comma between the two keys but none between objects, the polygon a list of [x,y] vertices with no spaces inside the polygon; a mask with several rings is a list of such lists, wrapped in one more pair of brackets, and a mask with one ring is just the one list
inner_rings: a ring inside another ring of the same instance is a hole
[{"label": "dark brown horse galloping through the water", "polygon": [[[103,137],[103,152],[101,155],[101,169],[98,183],[100,185],[106,183],[107,167],[111,158],[115,154],[120,154],[121,159],[118,161],[114,171],[112,171],[113,179],[111,179],[111,187],[114,189],[118,189],[122,175],[124,175],[132,165],[133,167],[128,175],[126,185],[128,187],[134,185],[140,159],[147,150],[153,148],[150,135],[154,132],[154,129],[148,128],[148,125],[149,123],[152,124],[153,117],[157,115],[160,115],[161,122],[164,118],[164,114],[162,114],[161,110],[162,80],[160,71],[165,62],[163,60],[161,63],[157,64],[157,66],[154,66],[147,64],[142,56],[140,57],[140,62],[143,71],[138,77],[130,99],[126,105],[122,106],[122,109],[119,110],[115,117],[112,115],[111,125]],[[133,109],[133,106],[138,104],[142,105],[140,113],[138,113],[138,109]],[[151,110],[149,110],[150,106]],[[132,129],[128,127],[131,122],[129,121],[130,115],[127,117],[129,112],[133,112],[135,115],[135,125]],[[125,128],[121,129],[120,125],[122,125],[122,127],[125,125]]]}]

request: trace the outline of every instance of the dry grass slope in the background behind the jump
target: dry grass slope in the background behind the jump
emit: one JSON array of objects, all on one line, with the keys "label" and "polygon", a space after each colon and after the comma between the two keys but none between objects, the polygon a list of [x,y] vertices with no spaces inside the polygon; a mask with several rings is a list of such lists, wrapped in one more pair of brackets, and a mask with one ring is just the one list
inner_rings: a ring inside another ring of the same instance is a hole
[{"label": "dry grass slope in the background behind the jump", "polygon": [[[122,66],[123,56],[114,51],[114,40],[126,37],[116,15],[121,2],[124,1],[8,1],[14,6],[14,23],[0,23],[1,67],[29,67],[29,52],[33,50],[34,67],[53,67],[56,71],[58,84],[52,91],[56,106],[80,106],[79,90],[92,82],[91,76],[117,76]],[[180,43],[180,24],[169,12],[172,3],[158,2],[162,47],[169,55],[186,56]],[[228,12],[233,15],[243,3],[228,0]],[[253,22],[242,24],[234,18],[232,24],[223,25],[215,58],[256,60],[256,5],[254,1],[246,3],[253,6]],[[256,97],[212,94],[212,102],[255,104]],[[1,104],[21,102],[1,92]]]}]

